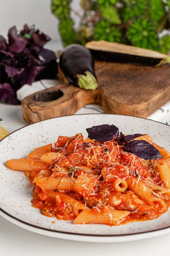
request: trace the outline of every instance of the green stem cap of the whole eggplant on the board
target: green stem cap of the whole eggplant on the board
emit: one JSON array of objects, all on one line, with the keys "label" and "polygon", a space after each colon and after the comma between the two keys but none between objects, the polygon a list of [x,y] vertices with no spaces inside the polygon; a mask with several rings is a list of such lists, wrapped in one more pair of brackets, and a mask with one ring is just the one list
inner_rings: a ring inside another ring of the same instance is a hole
[{"label": "green stem cap of the whole eggplant on the board", "polygon": [[97,79],[89,71],[84,72],[84,74],[77,74],[77,79],[81,89],[95,90],[98,87]]}]

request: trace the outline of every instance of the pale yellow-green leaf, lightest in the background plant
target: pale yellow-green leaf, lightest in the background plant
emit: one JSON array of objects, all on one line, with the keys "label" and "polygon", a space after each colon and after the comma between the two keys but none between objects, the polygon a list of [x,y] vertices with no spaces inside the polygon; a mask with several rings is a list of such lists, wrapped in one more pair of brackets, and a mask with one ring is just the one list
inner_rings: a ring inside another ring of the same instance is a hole
[{"label": "pale yellow-green leaf, lightest in the background plant", "polygon": [[121,19],[117,13],[117,9],[114,7],[106,7],[101,11],[102,17],[113,24],[121,24]]}]

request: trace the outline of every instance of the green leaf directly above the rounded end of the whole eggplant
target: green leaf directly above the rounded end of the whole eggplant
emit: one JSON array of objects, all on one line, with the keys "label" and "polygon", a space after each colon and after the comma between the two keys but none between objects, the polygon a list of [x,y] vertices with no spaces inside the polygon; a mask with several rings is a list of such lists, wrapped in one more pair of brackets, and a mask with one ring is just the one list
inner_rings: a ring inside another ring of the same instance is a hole
[{"label": "green leaf directly above the rounded end of the whole eggplant", "polygon": [[60,21],[59,31],[62,36],[64,47],[76,43],[76,34],[73,29],[73,20],[70,18],[64,18]]}]

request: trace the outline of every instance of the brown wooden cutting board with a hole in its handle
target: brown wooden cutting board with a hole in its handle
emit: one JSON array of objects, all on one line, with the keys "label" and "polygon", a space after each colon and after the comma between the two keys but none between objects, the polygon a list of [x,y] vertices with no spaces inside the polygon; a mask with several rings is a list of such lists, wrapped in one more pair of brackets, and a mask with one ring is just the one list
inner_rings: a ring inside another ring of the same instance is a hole
[{"label": "brown wooden cutting board with a hole in its handle", "polygon": [[99,87],[82,90],[68,83],[33,93],[21,102],[24,120],[34,123],[73,115],[86,104],[97,103],[109,114],[148,117],[170,99],[170,65],[151,67],[135,63],[95,62]]}]

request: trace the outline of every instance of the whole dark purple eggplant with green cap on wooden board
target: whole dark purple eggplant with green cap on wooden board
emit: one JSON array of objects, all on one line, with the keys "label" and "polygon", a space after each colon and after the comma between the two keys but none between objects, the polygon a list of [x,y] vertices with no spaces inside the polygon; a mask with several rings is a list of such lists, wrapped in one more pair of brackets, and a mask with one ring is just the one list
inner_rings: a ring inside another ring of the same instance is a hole
[{"label": "whole dark purple eggplant with green cap on wooden board", "polygon": [[68,45],[60,56],[59,66],[73,85],[95,90],[98,87],[91,52],[83,45]]}]

